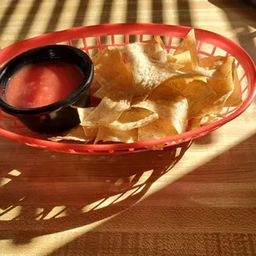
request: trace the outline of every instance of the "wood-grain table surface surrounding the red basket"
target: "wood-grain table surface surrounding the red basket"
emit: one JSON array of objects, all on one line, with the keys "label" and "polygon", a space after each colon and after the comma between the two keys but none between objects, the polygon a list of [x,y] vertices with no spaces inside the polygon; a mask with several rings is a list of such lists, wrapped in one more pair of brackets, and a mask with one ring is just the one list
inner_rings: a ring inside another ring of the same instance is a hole
[{"label": "wood-grain table surface surrounding the red basket", "polygon": [[[256,9],[235,2],[4,0],[0,45],[153,21],[216,31],[255,61]],[[0,254],[256,255],[255,108],[192,145],[141,154],[57,154],[1,138]]]}]

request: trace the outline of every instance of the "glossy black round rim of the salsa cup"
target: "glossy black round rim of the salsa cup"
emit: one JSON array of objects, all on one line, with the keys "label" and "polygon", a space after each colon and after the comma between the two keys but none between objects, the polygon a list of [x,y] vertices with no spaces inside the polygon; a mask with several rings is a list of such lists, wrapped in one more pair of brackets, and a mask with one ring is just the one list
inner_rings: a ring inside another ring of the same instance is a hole
[{"label": "glossy black round rim of the salsa cup", "polygon": [[[83,92],[86,92],[92,83],[92,78],[94,74],[94,68],[92,64],[92,59],[83,51],[76,47],[70,46],[70,45],[45,45],[40,46],[36,48],[32,48],[31,50],[26,50],[25,52],[22,52],[21,54],[15,56],[14,58],[10,59],[6,64],[2,66],[2,69],[0,70],[0,78],[2,78],[5,74],[5,71],[12,66],[12,64],[17,65],[16,62],[19,59],[22,59],[22,61],[26,61],[26,59],[29,59],[27,55],[36,54],[38,52],[45,52],[48,50],[70,50],[73,54],[78,55],[79,57],[82,57],[84,60],[84,63],[86,64],[87,68],[85,69],[85,72],[83,72],[83,81],[78,85],[78,88],[75,89],[71,94],[69,94],[68,97],[65,97],[64,99],[60,100],[59,102],[54,102],[49,105],[45,105],[42,107],[32,107],[32,108],[20,108],[20,107],[13,107],[12,105],[9,105],[7,102],[4,102],[0,98],[0,108],[2,108],[3,111],[7,112],[7,114],[10,114],[12,116],[40,116],[49,114],[51,112],[59,111],[60,109],[63,109],[64,107],[69,107],[73,104],[73,102],[76,102],[80,95]],[[31,59],[30,59],[31,60]],[[42,60],[41,62],[48,61],[48,59]],[[49,59],[50,60],[50,59]],[[64,61],[65,63],[68,63],[67,61],[60,59],[61,61]],[[25,64],[26,65],[26,64]],[[76,64],[74,64],[76,65]],[[79,65],[77,65],[78,68]],[[22,69],[22,68],[21,68]],[[8,79],[8,78],[7,78]]]}]

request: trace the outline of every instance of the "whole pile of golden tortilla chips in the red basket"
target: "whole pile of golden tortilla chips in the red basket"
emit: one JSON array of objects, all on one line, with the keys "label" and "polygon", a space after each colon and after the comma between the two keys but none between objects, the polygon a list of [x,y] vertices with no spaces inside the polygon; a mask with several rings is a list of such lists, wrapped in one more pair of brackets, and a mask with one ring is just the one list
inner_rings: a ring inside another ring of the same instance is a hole
[{"label": "whole pile of golden tortilla chips in the red basket", "polygon": [[199,60],[193,30],[173,55],[157,36],[107,47],[92,61],[91,90],[101,102],[78,109],[80,126],[49,140],[97,144],[160,139],[216,121],[223,107],[242,102],[234,57]]}]

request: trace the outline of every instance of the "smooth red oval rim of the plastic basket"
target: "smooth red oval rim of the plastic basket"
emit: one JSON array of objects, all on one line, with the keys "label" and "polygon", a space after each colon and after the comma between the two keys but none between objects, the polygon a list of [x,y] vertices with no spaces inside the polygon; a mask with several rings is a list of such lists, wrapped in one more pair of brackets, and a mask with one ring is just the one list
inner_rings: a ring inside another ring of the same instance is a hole
[{"label": "smooth red oval rim of the plastic basket", "polygon": [[[167,29],[170,31],[172,30],[177,31],[178,29],[181,29],[181,28],[183,28],[183,30],[186,30],[186,31],[189,31],[192,29],[192,27],[189,27],[189,26],[178,26],[178,25],[176,26],[176,25],[165,25],[165,24],[155,24],[155,23],[112,23],[112,24],[101,24],[101,25],[94,25],[94,26],[80,26],[80,27],[63,30],[63,31],[55,31],[45,35],[32,37],[30,39],[21,40],[16,44],[9,45],[6,48],[3,48],[2,50],[0,50],[0,63],[7,61],[6,56],[8,51],[17,48],[19,45],[23,45],[23,48],[24,48],[24,44],[32,40],[49,39],[50,37],[57,37],[59,39],[59,38],[63,38],[63,36],[65,36],[67,33],[78,34],[80,32],[81,33],[83,32],[83,35],[84,35],[86,34],[87,31],[92,31],[92,30],[97,31],[97,35],[95,36],[107,36],[107,35],[111,35],[111,28],[116,27],[117,29],[118,28],[124,29],[124,26],[126,26],[126,29],[130,29],[133,31],[137,30],[138,32],[141,31],[141,28],[149,29],[150,27],[152,28],[152,26],[154,26],[154,28],[161,26],[161,27],[164,27],[164,29]],[[104,30],[102,30],[102,27],[104,28]],[[107,32],[106,32],[106,28],[108,28]],[[12,140],[20,141],[21,143],[24,143],[24,144],[38,145],[41,148],[73,149],[78,151],[90,152],[90,151],[102,151],[102,150],[115,151],[120,149],[148,148],[149,146],[170,143],[175,140],[183,140],[186,138],[192,139],[193,137],[200,135],[201,133],[206,133],[211,130],[216,130],[218,127],[225,125],[225,123],[232,121],[233,119],[235,119],[235,117],[241,115],[253,102],[254,97],[256,95],[256,65],[254,64],[254,61],[251,59],[249,54],[241,46],[236,44],[234,41],[226,38],[225,36],[220,36],[219,34],[216,34],[211,31],[206,31],[199,28],[194,28],[194,29],[195,29],[196,35],[197,33],[198,34],[205,33],[206,35],[215,37],[217,40],[224,40],[226,44],[232,45],[232,47],[235,47],[237,50],[240,51],[240,53],[244,55],[243,56],[244,61],[246,61],[246,63],[249,65],[250,73],[251,73],[250,75],[251,80],[250,79],[248,80],[248,86],[250,86],[251,88],[249,95],[246,98],[246,100],[242,103],[242,105],[240,105],[233,113],[231,113],[230,116],[225,116],[220,121],[215,121],[211,124],[202,126],[200,128],[197,128],[196,130],[190,130],[190,131],[184,132],[183,134],[180,134],[180,135],[168,136],[168,137],[164,137],[162,139],[157,139],[157,140],[139,141],[135,143],[121,143],[121,144],[107,144],[107,145],[78,145],[78,144],[63,143],[63,142],[52,142],[49,140],[40,140],[40,139],[36,139],[26,135],[19,135],[12,131],[4,130],[2,128],[0,128],[0,135],[5,136]],[[98,31],[104,31],[104,32],[102,32],[101,35],[99,35]],[[129,31],[127,32],[127,34],[129,34]],[[64,40],[57,40],[57,41],[59,42]]]}]

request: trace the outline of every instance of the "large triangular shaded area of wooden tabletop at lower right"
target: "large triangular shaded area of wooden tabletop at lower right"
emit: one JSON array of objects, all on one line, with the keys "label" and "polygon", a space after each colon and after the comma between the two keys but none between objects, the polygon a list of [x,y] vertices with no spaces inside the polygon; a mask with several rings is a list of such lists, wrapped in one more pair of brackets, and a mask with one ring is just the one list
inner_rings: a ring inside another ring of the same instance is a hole
[{"label": "large triangular shaded area of wooden tabletop at lower right", "polygon": [[254,255],[255,144],[253,135],[50,255]]}]

